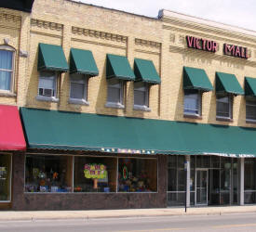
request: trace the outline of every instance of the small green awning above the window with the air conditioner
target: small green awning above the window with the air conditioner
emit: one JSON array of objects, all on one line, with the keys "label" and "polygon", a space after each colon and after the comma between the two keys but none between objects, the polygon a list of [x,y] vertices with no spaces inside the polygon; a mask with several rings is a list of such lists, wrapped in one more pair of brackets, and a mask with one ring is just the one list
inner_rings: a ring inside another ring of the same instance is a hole
[{"label": "small green awning above the window with the air conditioner", "polygon": [[38,71],[68,71],[68,63],[61,45],[38,45]]}]

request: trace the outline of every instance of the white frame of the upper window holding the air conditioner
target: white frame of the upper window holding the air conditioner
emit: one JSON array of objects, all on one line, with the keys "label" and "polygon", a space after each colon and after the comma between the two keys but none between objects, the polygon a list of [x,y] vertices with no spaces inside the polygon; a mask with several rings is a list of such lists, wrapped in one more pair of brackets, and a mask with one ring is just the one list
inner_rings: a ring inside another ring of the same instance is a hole
[{"label": "white frame of the upper window holding the air conditioner", "polygon": [[[44,76],[45,72],[51,72],[52,76]],[[53,96],[43,96],[43,95],[39,95],[39,89],[40,89],[40,79],[53,79],[54,82],[54,95]],[[37,100],[40,101],[52,101],[52,102],[59,102],[59,98],[58,96],[58,72],[57,71],[40,71],[39,72],[39,78],[38,78],[38,87],[37,87]]]}]

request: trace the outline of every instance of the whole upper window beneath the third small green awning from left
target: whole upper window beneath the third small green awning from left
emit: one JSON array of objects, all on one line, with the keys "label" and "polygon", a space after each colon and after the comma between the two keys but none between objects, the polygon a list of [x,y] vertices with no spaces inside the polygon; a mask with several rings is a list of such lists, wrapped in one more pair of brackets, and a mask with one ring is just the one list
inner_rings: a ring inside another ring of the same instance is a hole
[{"label": "whole upper window beneath the third small green awning from left", "polygon": [[124,81],[112,78],[107,80],[108,93],[106,107],[124,108]]}]

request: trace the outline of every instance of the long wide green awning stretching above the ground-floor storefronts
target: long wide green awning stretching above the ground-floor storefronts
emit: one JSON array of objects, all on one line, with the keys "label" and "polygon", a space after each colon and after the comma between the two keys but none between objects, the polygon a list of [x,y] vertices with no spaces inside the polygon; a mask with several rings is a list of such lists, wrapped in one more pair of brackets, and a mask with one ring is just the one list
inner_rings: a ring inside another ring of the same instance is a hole
[{"label": "long wide green awning stretching above the ground-floor storefronts", "polygon": [[20,114],[28,148],[256,157],[256,128],[28,108]]}]

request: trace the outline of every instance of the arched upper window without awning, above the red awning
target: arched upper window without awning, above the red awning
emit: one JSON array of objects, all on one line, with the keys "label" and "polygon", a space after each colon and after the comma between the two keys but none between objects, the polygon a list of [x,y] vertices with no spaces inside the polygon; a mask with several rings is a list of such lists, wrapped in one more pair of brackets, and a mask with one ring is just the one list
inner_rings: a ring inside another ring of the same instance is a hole
[{"label": "arched upper window without awning, above the red awning", "polygon": [[14,49],[0,45],[0,91],[12,91],[14,76]]}]

